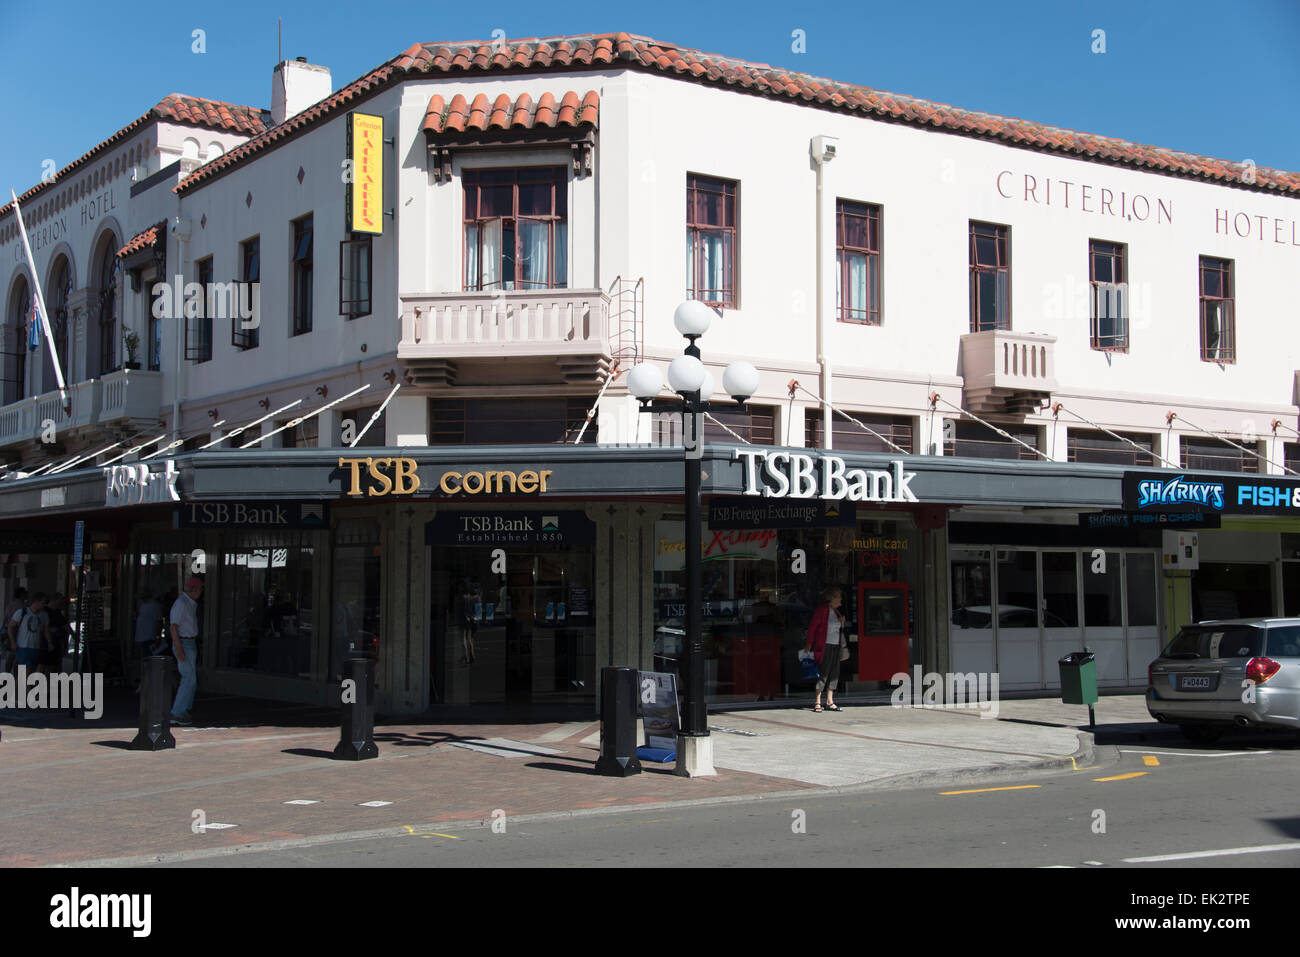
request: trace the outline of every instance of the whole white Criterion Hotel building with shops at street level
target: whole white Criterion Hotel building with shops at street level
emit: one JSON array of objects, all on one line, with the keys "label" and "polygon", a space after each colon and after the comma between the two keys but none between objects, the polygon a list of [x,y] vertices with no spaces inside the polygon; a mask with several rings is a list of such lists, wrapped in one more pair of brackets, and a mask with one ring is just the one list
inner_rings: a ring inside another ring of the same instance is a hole
[{"label": "whole white Criterion Hotel building with shops at street level", "polygon": [[[680,423],[627,372],[718,311],[712,701],[1145,684],[1193,618],[1300,612],[1300,176],[614,34],[415,44],[270,111],[172,96],[0,208],[0,538],[92,663],[202,571],[200,688],[594,706],[671,670]],[[72,393],[31,347],[44,290]],[[202,703],[202,702],[200,702]]]}]

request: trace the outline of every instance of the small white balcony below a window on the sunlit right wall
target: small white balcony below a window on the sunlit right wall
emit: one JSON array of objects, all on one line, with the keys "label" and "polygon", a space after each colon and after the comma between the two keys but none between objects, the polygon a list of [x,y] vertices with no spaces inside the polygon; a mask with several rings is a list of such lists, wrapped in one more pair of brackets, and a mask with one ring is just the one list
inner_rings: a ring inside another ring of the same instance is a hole
[{"label": "small white balcony below a window on the sunlit right wall", "polygon": [[979,413],[1024,415],[1056,390],[1054,335],[989,329],[962,335],[965,407]]}]

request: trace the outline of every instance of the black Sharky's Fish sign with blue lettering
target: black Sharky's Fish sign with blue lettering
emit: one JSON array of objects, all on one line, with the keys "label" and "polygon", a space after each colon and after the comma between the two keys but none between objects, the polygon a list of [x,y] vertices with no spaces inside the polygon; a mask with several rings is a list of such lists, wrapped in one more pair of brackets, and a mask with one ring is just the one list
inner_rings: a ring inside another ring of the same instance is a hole
[{"label": "black Sharky's Fish sign with blue lettering", "polygon": [[1188,476],[1124,472],[1126,511],[1219,515],[1300,515],[1300,481],[1280,476]]}]

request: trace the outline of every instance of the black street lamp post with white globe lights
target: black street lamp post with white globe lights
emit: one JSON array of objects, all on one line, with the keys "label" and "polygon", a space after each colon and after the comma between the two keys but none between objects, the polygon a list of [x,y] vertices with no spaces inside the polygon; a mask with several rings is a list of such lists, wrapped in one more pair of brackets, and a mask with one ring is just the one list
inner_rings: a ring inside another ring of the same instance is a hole
[{"label": "black street lamp post with white globe lights", "polygon": [[[655,403],[663,389],[659,368],[642,363],[628,374],[628,390],[641,402],[642,412],[681,412],[681,436],[685,447],[685,503],[686,503],[686,654],[684,658],[685,701],[681,732],[677,737],[676,774],[688,778],[712,775],[712,741],[708,737],[708,715],[705,707],[705,638],[701,627],[701,502],[699,480],[703,460],[701,441],[703,413],[711,406],[714,378],[699,360],[697,341],[708,332],[714,311],[703,303],[689,299],[672,315],[673,325],[686,337],[685,352],[668,365],[668,386],[681,397],[679,403]],[[723,387],[744,408],[745,400],[758,390],[758,371],[746,361],[732,363],[723,373]]]}]

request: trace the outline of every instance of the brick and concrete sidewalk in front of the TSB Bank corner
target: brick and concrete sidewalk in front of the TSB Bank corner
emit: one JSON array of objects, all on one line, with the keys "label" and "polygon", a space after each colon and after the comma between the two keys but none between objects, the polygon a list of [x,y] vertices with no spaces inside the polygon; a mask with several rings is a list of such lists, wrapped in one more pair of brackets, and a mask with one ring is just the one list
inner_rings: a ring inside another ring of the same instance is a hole
[{"label": "brick and concrete sidewalk in front of the TSB Bank corner", "polygon": [[[1104,697],[1096,710],[1101,744],[1173,733],[1150,720],[1140,694]],[[0,713],[0,866],[452,830],[489,822],[497,810],[581,814],[1096,763],[1087,709],[1050,698],[1002,701],[998,718],[883,705],[711,713],[718,776],[699,779],[677,778],[671,765],[644,765],[632,778],[595,775],[594,719],[402,719],[376,729],[378,759],[341,762],[330,758],[337,713],[200,697],[195,714],[192,728],[173,728],[176,750],[148,753],[125,749],[135,726],[121,709],[96,723]],[[196,833],[196,822],[209,827]]]}]

